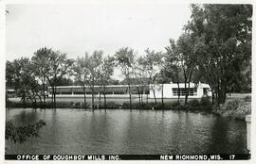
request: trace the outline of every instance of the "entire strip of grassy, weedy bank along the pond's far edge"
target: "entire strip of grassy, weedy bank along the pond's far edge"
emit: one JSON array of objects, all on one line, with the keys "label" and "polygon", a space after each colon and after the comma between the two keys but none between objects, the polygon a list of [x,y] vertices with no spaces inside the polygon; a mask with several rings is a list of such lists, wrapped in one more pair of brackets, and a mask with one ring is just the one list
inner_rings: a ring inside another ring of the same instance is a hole
[{"label": "entire strip of grassy, weedy bank along the pond's far edge", "polygon": [[[91,108],[90,103],[88,102],[86,108]],[[26,103],[23,104],[18,101],[9,101],[7,102],[7,107],[31,107],[31,108],[52,108],[51,102],[46,102],[46,104],[32,104]],[[57,108],[84,108],[82,102],[66,102],[58,101]],[[144,109],[144,110],[186,110],[186,111],[207,111],[213,114],[218,114],[223,117],[228,117],[231,119],[245,120],[247,114],[251,113],[251,98],[247,96],[236,96],[235,98],[228,97],[227,102],[220,107],[212,107],[210,98],[204,97],[200,100],[192,99],[188,102],[187,105],[184,105],[184,101],[170,101],[164,102],[162,105],[160,102],[155,104],[154,102],[139,104],[134,102],[132,104],[133,109]],[[128,102],[120,103],[115,101],[108,101],[106,107],[96,103],[95,109],[130,109],[130,104]]]}]

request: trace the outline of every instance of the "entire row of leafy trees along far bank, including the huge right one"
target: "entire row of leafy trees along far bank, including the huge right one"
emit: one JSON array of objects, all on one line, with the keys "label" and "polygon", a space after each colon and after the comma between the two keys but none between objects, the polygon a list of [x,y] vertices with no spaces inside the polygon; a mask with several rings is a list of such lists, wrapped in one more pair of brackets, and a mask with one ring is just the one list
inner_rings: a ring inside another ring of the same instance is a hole
[{"label": "entire row of leafy trees along far bank, including the huge right one", "polygon": [[[146,49],[144,54],[130,47],[120,48],[113,56],[103,57],[102,51],[88,53],[76,59],[51,48],[40,48],[33,56],[21,57],[6,63],[6,85],[13,88],[26,103],[46,104],[46,90],[52,89],[52,107],[56,107],[56,86],[81,85],[86,109],[85,86],[92,94],[94,109],[95,86],[100,86],[106,106],[106,85],[119,84],[112,79],[114,69],[119,68],[128,86],[132,107],[131,86],[137,85],[139,104],[143,102],[143,90],[150,86],[161,89],[164,83],[173,81],[185,84],[205,82],[212,91],[212,103],[225,103],[226,95],[234,91],[250,91],[251,88],[251,5],[191,5],[190,22],[184,25],[177,41],[170,40],[164,51]],[[180,92],[178,91],[178,101]],[[189,90],[185,93],[188,102]],[[163,91],[161,105],[164,105]]]}]

